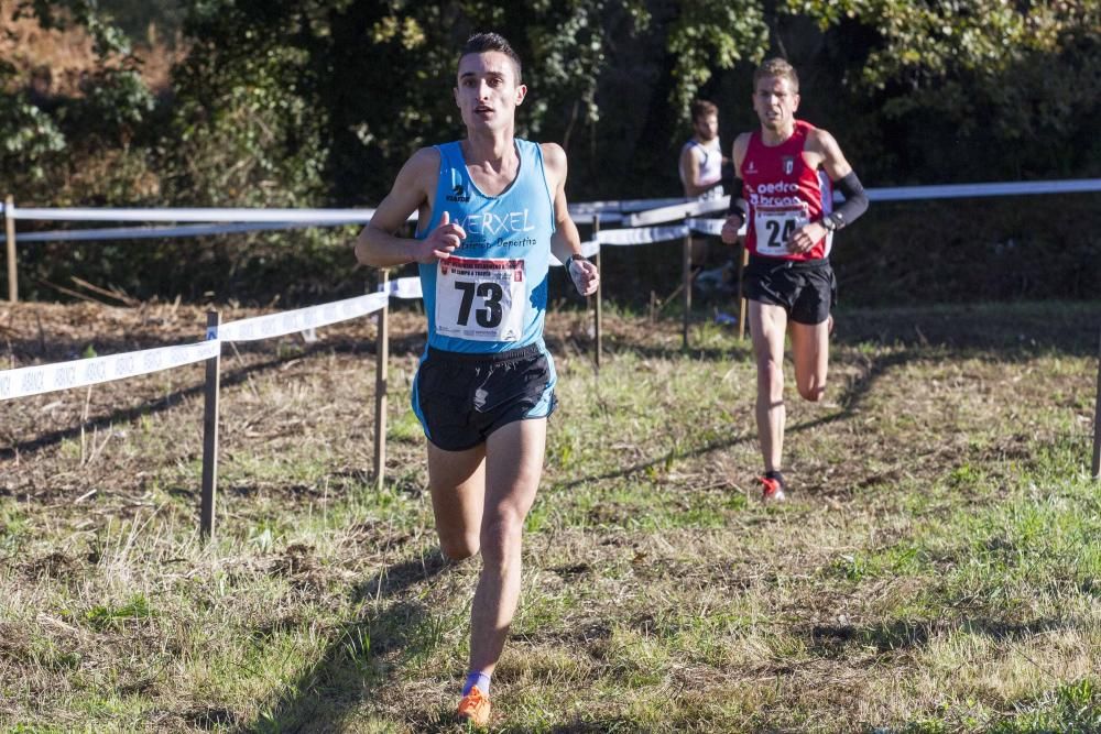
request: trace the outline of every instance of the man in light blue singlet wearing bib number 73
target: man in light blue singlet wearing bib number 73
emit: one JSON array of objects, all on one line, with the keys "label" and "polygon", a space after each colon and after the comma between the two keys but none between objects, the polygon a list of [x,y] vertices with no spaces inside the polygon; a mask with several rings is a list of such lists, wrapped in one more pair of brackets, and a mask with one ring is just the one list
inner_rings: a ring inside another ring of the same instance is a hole
[{"label": "man in light blue singlet wearing bib number 73", "polygon": [[[359,262],[419,263],[428,346],[413,409],[428,438],[428,484],[444,554],[479,550],[470,613],[470,675],[457,714],[489,722],[489,683],[520,600],[521,532],[535,500],[555,408],[543,341],[549,255],[581,295],[596,266],[566,209],[566,154],[514,136],[527,88],[509,42],[471,36],[455,101],[467,136],[424,147],[356,242]],[[414,211],[415,239],[394,234]]]}]

